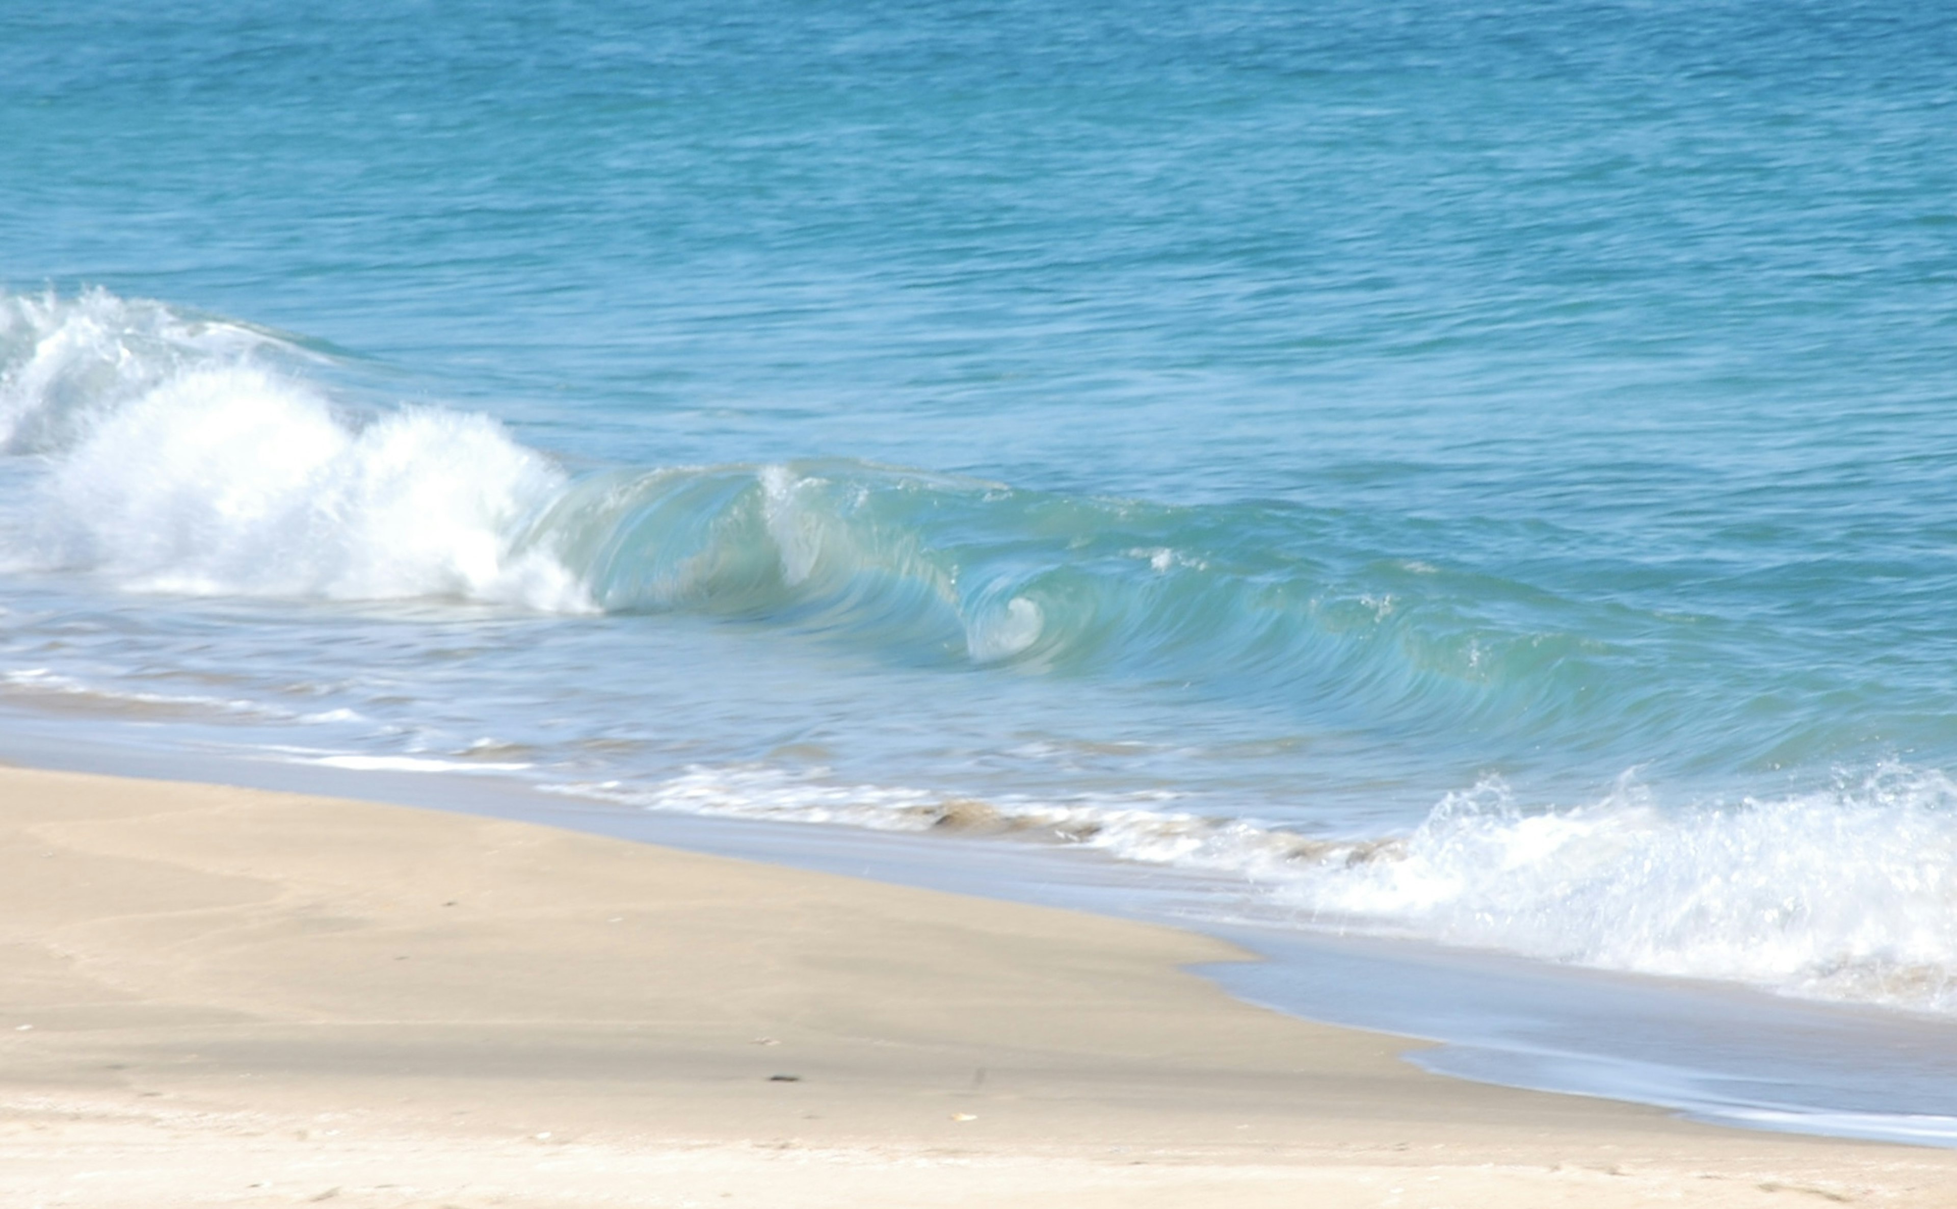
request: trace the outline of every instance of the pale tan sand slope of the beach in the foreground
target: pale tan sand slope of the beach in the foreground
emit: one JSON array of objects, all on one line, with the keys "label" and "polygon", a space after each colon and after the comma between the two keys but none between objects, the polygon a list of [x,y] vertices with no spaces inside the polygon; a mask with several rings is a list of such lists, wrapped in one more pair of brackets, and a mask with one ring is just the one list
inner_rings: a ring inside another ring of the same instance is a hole
[{"label": "pale tan sand slope of the beach in the foreground", "polygon": [[1442,1080],[1178,970],[1231,957],[550,828],[8,769],[0,1205],[1957,1205],[1949,1152]]}]

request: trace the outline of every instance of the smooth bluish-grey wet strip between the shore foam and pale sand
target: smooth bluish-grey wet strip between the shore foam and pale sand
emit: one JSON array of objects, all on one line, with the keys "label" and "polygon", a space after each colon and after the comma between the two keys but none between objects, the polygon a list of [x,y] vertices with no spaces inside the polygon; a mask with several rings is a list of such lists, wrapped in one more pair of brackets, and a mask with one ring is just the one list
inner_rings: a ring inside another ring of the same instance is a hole
[{"label": "smooth bluish-grey wet strip between the shore foam and pale sand", "polygon": [[1231,996],[1431,1047],[1407,1060],[1472,1082],[1648,1103],[1728,1127],[1957,1146],[1957,1029],[1748,988],[1579,970],[1417,941],[1229,921],[1202,874],[1070,847],[622,810],[495,777],[299,767],[0,732],[23,767],[221,783],[446,810],[614,839],[1092,912],[1235,943],[1260,961],[1198,966]]}]

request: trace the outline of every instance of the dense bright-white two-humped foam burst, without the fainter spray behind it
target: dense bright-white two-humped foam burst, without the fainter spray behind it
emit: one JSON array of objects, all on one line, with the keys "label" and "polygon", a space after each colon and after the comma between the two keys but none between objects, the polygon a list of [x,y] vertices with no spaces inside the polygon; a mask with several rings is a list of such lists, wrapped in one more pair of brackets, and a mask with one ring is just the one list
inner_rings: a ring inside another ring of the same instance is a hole
[{"label": "dense bright-white two-humped foam burst, without the fainter spray behind it", "polygon": [[479,415],[403,411],[364,428],[252,366],[192,370],[59,458],[41,540],[141,591],[462,597],[583,608],[513,534],[562,475]]}]

